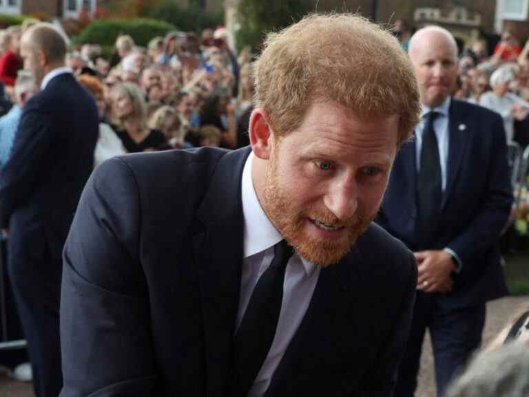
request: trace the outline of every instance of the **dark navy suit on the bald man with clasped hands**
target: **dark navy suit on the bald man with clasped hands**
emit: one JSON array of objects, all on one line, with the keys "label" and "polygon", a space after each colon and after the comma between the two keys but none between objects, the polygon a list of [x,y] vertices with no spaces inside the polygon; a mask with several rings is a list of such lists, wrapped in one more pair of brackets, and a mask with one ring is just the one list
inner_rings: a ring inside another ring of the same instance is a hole
[{"label": "dark navy suit on the bald man with clasped hands", "polygon": [[[408,365],[403,364],[400,374],[400,378],[411,379],[408,389],[415,387],[413,383],[426,326],[433,325],[441,316],[453,321],[442,332],[435,334],[434,350],[436,346],[455,343],[460,336],[458,333],[474,334],[470,337],[470,346],[462,347],[467,350],[464,354],[466,356],[472,345],[479,345],[482,324],[473,327],[473,320],[470,319],[468,326],[475,329],[467,327],[463,331],[458,328],[461,321],[454,320],[449,314],[460,313],[465,316],[465,310],[481,308],[479,310],[483,315],[478,315],[476,321],[483,322],[484,303],[507,294],[496,244],[512,204],[501,117],[483,107],[453,99],[449,110],[448,133],[446,189],[442,197],[439,225],[435,230],[435,242],[428,249],[450,248],[461,259],[462,270],[455,277],[452,292],[417,294],[413,337],[406,354]],[[420,194],[417,192],[416,158],[415,141],[412,140],[404,145],[395,159],[380,217],[377,219],[377,222],[411,250],[419,248],[415,232],[416,200],[417,194]],[[440,355],[436,352],[436,358],[439,358],[436,359],[437,386],[444,389],[454,367],[466,357],[455,352],[443,360],[442,352],[439,353]],[[396,394],[412,395],[413,391],[410,390]]]}]

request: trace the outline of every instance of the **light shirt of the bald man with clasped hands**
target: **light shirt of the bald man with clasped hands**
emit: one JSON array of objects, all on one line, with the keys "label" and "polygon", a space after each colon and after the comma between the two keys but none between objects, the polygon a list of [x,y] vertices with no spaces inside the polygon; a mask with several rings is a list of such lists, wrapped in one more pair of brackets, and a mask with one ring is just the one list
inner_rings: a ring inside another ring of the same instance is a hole
[{"label": "light shirt of the bald man with clasped hands", "polygon": [[435,131],[435,136],[437,137],[437,146],[439,147],[441,187],[443,191],[446,189],[446,174],[448,172],[448,109],[450,109],[450,96],[448,96],[441,105],[434,109],[422,105],[421,121],[417,124],[417,127],[415,127],[415,153],[417,158],[415,163],[417,164],[417,173],[419,173],[421,170],[422,133],[424,132],[424,127],[426,127],[426,114],[430,113],[430,111],[437,111],[437,113],[439,113],[435,120],[433,120],[433,129]]}]

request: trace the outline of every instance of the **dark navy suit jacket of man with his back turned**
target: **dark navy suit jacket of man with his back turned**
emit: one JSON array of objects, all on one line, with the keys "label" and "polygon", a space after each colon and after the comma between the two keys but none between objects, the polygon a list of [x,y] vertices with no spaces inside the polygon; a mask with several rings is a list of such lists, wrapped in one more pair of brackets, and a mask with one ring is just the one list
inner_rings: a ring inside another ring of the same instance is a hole
[{"label": "dark navy suit jacket of man with his back turned", "polygon": [[57,311],[63,244],[93,169],[97,138],[94,99],[72,74],[60,74],[25,104],[0,171],[0,220],[9,228],[12,277],[25,279],[38,299],[55,301]]}]

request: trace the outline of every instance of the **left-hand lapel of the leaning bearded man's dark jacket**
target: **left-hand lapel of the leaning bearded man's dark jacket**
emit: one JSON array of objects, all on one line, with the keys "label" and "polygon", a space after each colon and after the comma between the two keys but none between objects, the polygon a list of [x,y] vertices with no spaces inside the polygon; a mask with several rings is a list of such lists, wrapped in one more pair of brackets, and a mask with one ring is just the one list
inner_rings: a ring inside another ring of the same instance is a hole
[{"label": "left-hand lapel of the leaning bearded man's dark jacket", "polygon": [[197,213],[194,252],[202,297],[208,397],[225,392],[243,255],[242,169],[249,148],[224,155]]}]

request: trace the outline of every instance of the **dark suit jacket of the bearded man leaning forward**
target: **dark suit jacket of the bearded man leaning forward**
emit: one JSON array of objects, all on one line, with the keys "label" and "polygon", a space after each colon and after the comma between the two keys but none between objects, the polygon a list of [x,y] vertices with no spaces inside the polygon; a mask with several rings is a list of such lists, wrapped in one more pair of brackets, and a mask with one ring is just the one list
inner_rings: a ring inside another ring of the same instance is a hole
[{"label": "dark suit jacket of the bearded man leaning forward", "polygon": [[[225,395],[248,154],[142,153],[96,169],[64,250],[61,397]],[[267,396],[390,396],[416,276],[372,225],[320,272]]]}]

